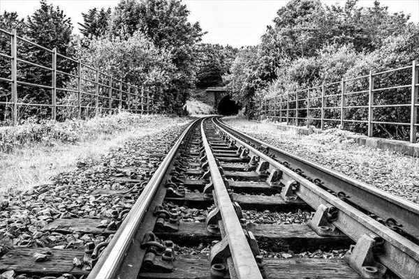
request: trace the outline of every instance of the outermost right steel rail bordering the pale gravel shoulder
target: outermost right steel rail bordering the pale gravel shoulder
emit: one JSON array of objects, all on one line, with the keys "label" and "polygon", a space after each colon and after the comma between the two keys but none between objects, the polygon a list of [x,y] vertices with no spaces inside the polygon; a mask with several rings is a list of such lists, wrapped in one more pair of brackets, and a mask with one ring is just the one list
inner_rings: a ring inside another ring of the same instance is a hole
[{"label": "outermost right steel rail bordering the pale gravel shoulder", "polygon": [[[230,131],[234,130],[225,123],[218,121],[218,119],[216,122]],[[335,193],[345,193],[348,201],[358,204],[376,216],[384,220],[388,218],[397,220],[397,223],[403,225],[402,229],[405,232],[419,239],[419,206],[417,204],[386,193],[345,174],[335,172],[328,167],[323,167],[310,160],[296,156],[293,153],[281,150],[240,131],[234,130],[234,133],[252,144],[267,146],[269,151],[274,154],[276,160],[285,161],[294,169],[302,169],[304,174],[311,177],[311,179],[320,179],[325,188]]]}]

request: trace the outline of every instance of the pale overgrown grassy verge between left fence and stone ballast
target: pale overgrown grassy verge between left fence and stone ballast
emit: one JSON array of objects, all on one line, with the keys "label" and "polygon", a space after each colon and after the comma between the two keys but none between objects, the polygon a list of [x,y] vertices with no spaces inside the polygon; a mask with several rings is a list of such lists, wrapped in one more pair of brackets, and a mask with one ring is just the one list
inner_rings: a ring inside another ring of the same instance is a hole
[{"label": "pale overgrown grassy verge between left fence and stone ballast", "polygon": [[0,128],[0,196],[47,183],[78,164],[94,163],[125,142],[139,139],[190,119],[120,112],[89,121],[29,120]]}]

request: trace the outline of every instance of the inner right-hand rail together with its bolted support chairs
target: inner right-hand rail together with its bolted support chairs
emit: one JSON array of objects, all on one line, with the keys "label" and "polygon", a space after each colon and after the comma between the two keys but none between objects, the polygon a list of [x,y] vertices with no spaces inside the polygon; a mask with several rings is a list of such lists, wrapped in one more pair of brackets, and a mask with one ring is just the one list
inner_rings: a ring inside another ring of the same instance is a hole
[{"label": "inner right-hand rail together with its bolted support chairs", "polygon": [[250,146],[217,121],[214,125],[231,144],[259,161],[259,172],[269,172],[271,178],[274,176],[274,180],[284,185],[281,190],[284,201],[300,198],[316,209],[309,222],[314,231],[323,236],[337,236],[343,232],[357,243],[345,259],[362,277],[378,278],[370,276],[390,269],[400,278],[419,278],[419,246],[416,243]]}]

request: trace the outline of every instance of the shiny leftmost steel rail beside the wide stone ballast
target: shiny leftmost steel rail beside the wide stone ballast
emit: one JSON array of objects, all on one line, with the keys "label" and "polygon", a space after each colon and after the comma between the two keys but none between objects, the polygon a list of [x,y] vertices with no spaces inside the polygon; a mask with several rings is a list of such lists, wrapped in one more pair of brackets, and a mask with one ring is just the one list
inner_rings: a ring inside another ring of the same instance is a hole
[{"label": "shiny leftmost steel rail beside the wide stone ballast", "polygon": [[200,120],[201,119],[197,119],[196,121],[193,121],[193,123],[191,123],[188,128],[184,130],[179,139],[172,146],[172,149],[170,149],[168,155],[166,158],[164,158],[159,168],[156,169],[156,172],[147,183],[147,186],[145,186],[144,190],[142,190],[140,197],[138,197],[131,211],[129,211],[128,215],[115,233],[115,236],[110,241],[108,247],[105,248],[103,254],[98,259],[98,262],[89,273],[89,277],[87,277],[88,279],[116,278],[117,272],[120,265],[122,264],[122,261],[124,260],[126,252],[131,246],[133,237],[135,236],[138,227],[142,223],[149,204],[152,202],[156,190],[159,188],[163,177],[168,171],[168,167],[170,167],[170,164],[172,163],[172,160],[174,159],[179,146],[182,144],[184,137],[187,135],[187,133],[189,133],[194,124]]}]

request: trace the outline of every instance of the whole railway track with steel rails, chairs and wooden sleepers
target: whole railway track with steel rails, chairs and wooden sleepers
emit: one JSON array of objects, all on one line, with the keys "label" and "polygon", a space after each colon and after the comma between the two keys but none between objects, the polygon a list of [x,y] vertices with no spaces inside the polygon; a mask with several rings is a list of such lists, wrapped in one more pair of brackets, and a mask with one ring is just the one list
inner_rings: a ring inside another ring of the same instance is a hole
[{"label": "whole railway track with steel rails, chairs and wooden sleepers", "polygon": [[[146,171],[147,186],[130,210],[44,227],[51,234],[103,234],[103,241],[86,243],[84,251],[16,248],[3,255],[0,269],[27,278],[419,278],[416,204],[214,117],[191,123]],[[130,190],[97,195],[117,199]],[[307,224],[263,220],[273,212],[311,211]],[[344,259],[322,252],[330,250]],[[320,252],[307,258],[307,251]],[[48,261],[34,262],[36,252]]]}]

